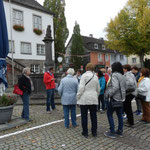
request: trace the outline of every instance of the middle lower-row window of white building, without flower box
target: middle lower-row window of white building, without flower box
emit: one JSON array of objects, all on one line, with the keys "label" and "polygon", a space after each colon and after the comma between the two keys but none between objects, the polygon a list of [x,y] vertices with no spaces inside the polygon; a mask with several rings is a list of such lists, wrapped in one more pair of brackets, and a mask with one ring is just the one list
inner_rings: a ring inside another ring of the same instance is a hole
[{"label": "middle lower-row window of white building, without flower box", "polygon": [[31,43],[21,42],[21,54],[31,54]]}]

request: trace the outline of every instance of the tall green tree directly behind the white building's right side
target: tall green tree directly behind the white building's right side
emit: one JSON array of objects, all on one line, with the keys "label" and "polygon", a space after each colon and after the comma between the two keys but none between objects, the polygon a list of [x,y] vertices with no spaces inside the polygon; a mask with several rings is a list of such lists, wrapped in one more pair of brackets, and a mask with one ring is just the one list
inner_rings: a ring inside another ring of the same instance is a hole
[{"label": "tall green tree directly behind the white building's right side", "polygon": [[45,0],[44,7],[54,13],[55,62],[57,63],[58,53],[65,53],[65,42],[69,35],[64,13],[65,0]]}]

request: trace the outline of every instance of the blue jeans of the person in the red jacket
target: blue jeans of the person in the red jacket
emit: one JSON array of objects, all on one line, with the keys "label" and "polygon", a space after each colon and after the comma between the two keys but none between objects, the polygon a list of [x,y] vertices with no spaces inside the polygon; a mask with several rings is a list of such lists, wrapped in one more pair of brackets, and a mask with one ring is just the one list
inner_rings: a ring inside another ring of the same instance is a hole
[{"label": "blue jeans of the person in the red jacket", "polygon": [[47,101],[46,101],[46,111],[50,111],[50,106],[52,109],[55,109],[55,103],[54,103],[54,89],[47,90]]}]

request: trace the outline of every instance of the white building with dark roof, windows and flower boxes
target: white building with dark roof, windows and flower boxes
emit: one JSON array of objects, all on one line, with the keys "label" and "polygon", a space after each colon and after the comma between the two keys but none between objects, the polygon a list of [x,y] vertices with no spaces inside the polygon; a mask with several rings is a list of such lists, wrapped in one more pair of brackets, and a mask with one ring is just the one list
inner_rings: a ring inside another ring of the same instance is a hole
[{"label": "white building with dark roof, windows and flower boxes", "polygon": [[[34,73],[43,73],[45,45],[42,40],[48,25],[51,26],[54,39],[53,14],[35,0],[11,0],[11,4],[4,0],[4,8],[10,45],[8,56],[12,57],[11,50],[13,50],[15,61],[30,67]],[[24,30],[17,31],[14,26],[23,27]],[[36,34],[34,29],[42,33]],[[54,42],[52,43],[52,54],[54,60]]]}]

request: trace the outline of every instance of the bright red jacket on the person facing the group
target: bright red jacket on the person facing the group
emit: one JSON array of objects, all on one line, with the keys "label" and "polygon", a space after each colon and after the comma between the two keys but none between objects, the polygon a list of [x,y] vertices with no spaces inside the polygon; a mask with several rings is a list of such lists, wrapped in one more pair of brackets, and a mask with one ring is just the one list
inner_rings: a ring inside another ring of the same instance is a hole
[{"label": "bright red jacket on the person facing the group", "polygon": [[55,80],[52,80],[52,79],[55,79],[54,74],[52,74],[51,72],[44,73],[43,82],[47,90],[55,88]]}]

